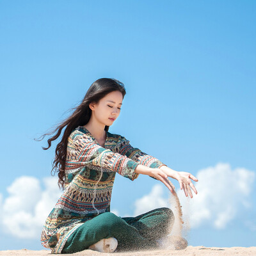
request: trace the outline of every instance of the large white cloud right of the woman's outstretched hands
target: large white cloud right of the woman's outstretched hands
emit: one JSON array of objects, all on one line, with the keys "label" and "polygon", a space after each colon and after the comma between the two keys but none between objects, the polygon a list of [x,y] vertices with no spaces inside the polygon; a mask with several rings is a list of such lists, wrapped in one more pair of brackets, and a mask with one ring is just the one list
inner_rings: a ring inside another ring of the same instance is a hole
[{"label": "large white cloud right of the woman's outstretched hands", "polygon": [[218,163],[214,167],[200,170],[196,174],[198,182],[193,182],[198,194],[186,198],[184,191],[180,198],[185,218],[189,218],[191,228],[211,223],[214,228],[225,228],[239,212],[252,207],[250,194],[255,173],[245,168],[231,170],[230,164]]}]

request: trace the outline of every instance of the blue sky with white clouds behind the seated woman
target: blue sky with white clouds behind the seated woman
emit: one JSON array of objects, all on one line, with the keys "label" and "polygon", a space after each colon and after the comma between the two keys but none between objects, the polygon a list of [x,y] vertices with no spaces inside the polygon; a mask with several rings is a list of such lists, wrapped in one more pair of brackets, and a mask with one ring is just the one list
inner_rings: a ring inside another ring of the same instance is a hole
[{"label": "blue sky with white clouds behind the seated woman", "polygon": [[[45,249],[40,225],[60,193],[51,176],[57,143],[42,150],[47,138],[33,138],[101,77],[127,91],[109,132],[201,178],[193,199],[178,192],[190,205],[189,245],[255,246],[255,9],[255,1],[1,1],[0,250]],[[148,198],[172,208],[169,195],[145,175],[116,175],[111,209],[146,212]]]}]

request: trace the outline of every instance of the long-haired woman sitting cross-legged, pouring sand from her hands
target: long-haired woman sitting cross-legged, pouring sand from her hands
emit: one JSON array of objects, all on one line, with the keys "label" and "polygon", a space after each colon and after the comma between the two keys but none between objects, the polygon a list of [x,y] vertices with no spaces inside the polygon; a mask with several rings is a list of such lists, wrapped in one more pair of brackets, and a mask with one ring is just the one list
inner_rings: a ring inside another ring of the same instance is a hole
[{"label": "long-haired woman sitting cross-legged, pouring sand from her hands", "polygon": [[[88,89],[81,104],[58,124],[52,164],[64,192],[45,221],[41,243],[52,253],[74,253],[85,249],[99,252],[160,247],[173,227],[174,216],[167,207],[136,217],[121,218],[110,212],[111,191],[116,172],[130,180],[139,174],[160,180],[173,192],[168,177],[177,179],[186,196],[197,193],[191,173],[176,172],[166,164],[133,148],[124,136],[108,131],[120,115],[124,84],[102,78]],[[43,137],[44,138],[44,137]],[[44,148],[45,150],[48,149]]]}]

